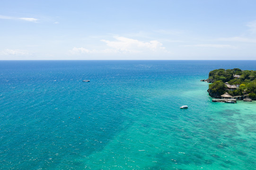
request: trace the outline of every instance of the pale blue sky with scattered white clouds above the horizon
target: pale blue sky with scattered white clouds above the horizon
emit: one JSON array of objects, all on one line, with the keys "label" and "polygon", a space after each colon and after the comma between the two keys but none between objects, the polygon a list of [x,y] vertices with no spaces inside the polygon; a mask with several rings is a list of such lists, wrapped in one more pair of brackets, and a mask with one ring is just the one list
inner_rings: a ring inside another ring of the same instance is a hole
[{"label": "pale blue sky with scattered white clouds above the horizon", "polygon": [[256,59],[256,0],[1,0],[0,60]]}]

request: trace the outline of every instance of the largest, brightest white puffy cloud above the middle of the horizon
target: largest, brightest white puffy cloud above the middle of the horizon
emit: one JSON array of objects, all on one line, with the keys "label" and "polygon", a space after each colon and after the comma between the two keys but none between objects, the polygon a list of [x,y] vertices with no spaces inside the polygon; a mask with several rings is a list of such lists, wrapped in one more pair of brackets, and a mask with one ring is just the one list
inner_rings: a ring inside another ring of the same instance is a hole
[{"label": "largest, brightest white puffy cloud above the middle of the horizon", "polygon": [[142,42],[139,40],[125,38],[121,36],[115,36],[114,38],[117,41],[101,41],[106,42],[106,45],[108,47],[111,47],[113,50],[120,52],[143,52],[145,50],[158,51],[165,49],[165,47],[162,47],[163,44],[156,40],[150,42]]}]

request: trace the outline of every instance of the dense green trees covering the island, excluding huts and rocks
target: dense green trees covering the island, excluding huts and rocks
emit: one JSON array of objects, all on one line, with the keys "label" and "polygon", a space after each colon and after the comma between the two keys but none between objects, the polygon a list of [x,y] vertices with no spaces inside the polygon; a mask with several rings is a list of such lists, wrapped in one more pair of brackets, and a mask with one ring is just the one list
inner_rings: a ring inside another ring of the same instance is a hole
[{"label": "dense green trees covering the island, excluding huts and rocks", "polygon": [[[240,76],[239,78],[234,75]],[[209,85],[211,93],[221,95],[228,92],[230,95],[243,95],[249,94],[249,97],[256,100],[256,71],[254,70],[241,70],[239,68],[234,69],[215,69],[210,71],[209,78],[212,84]],[[209,81],[208,81],[209,82]],[[236,90],[227,90],[228,82],[230,85],[239,85]]]}]

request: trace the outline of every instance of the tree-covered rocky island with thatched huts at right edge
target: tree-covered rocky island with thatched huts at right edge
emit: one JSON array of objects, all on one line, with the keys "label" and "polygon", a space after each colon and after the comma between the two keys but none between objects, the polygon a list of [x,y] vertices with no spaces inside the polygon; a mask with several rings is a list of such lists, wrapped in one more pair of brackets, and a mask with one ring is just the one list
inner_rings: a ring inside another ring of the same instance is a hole
[{"label": "tree-covered rocky island with thatched huts at right edge", "polygon": [[236,98],[244,101],[256,100],[256,71],[233,69],[215,69],[209,72],[211,83],[207,92],[213,98]]}]

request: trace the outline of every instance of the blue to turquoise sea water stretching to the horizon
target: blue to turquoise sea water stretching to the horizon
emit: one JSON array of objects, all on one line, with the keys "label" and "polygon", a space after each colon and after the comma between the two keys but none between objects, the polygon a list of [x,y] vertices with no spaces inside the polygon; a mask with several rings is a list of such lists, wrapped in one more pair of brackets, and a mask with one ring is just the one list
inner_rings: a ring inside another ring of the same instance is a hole
[{"label": "blue to turquoise sea water stretching to the horizon", "polygon": [[0,169],[256,170],[256,103],[211,102],[218,68],[256,61],[0,61]]}]

